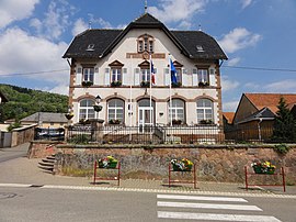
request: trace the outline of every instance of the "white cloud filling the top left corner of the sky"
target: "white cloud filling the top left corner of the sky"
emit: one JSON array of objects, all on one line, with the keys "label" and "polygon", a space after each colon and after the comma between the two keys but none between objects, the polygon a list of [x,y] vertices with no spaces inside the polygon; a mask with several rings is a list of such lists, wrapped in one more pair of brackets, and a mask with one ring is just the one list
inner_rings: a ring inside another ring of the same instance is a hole
[{"label": "white cloud filling the top left corner of the sky", "polygon": [[39,0],[1,0],[0,1],[0,29],[13,21],[29,18]]}]

